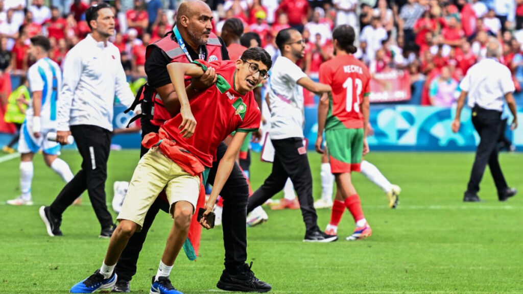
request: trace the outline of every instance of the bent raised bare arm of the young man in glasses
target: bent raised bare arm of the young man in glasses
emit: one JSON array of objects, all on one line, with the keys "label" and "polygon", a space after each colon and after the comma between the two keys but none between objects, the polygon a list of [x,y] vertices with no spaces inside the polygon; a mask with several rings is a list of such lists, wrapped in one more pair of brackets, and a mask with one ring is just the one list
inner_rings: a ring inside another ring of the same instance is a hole
[{"label": "bent raised bare arm of the young man in glasses", "polygon": [[194,63],[174,62],[167,65],[167,72],[169,73],[170,81],[173,83],[180,103],[180,114],[183,119],[179,127],[179,129],[181,129],[180,134],[182,134],[184,138],[189,138],[195,132],[196,120],[194,116],[192,116],[189,105],[189,98],[187,97],[187,91],[185,89],[185,76],[199,77],[203,75],[204,71],[200,66]]}]

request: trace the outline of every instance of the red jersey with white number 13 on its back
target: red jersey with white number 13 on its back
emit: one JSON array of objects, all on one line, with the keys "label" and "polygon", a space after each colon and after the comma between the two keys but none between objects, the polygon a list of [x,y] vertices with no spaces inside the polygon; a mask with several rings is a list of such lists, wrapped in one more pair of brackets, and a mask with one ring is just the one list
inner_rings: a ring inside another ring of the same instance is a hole
[{"label": "red jersey with white number 13 on its back", "polygon": [[336,56],[320,66],[320,83],[332,87],[325,129],[363,128],[360,104],[370,95],[370,73],[352,54]]}]

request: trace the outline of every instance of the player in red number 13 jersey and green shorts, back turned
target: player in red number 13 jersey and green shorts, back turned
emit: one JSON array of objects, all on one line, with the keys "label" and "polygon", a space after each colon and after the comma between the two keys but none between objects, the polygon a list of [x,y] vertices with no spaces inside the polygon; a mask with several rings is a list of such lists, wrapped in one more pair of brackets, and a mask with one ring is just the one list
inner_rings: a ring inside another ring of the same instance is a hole
[{"label": "player in red number 13 jersey and green shorts, back turned", "polygon": [[338,223],[347,208],[356,222],[356,229],[347,240],[367,238],[372,230],[363,216],[360,198],[350,173],[360,171],[362,155],[369,152],[365,129],[369,122],[370,73],[353,54],[355,32],[349,25],[340,25],[332,33],[335,58],[320,66],[320,82],[332,87],[332,96],[323,97],[318,108],[316,151],[323,153],[323,130],[328,146],[331,171],[340,193],[332,207],[327,234],[336,234]]}]

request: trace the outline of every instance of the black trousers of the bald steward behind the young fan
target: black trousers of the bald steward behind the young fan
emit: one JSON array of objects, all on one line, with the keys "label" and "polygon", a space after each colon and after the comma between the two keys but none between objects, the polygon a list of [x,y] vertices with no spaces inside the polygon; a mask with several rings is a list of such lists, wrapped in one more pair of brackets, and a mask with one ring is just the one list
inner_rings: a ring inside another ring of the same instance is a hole
[{"label": "black trousers of the bald steward behind the young fan", "polygon": [[[145,134],[150,132],[158,132],[158,127],[151,125],[146,119],[141,120],[142,123],[142,138]],[[207,182],[214,183],[218,163],[222,159],[227,145],[221,143],[217,151],[217,161],[209,172]],[[147,149],[141,150],[140,157],[147,152]],[[244,268],[247,260],[247,198],[249,196],[249,187],[247,181],[243,176],[240,167],[235,164],[229,179],[223,186],[220,193],[223,198],[222,211],[222,229],[223,229],[223,245],[225,247],[225,268],[230,273],[237,273]],[[119,280],[130,281],[132,276],[136,274],[138,257],[142,250],[143,243],[147,237],[147,232],[160,211],[161,199],[156,199],[147,211],[142,230],[134,233],[124,248],[120,259],[115,267],[115,273]]]}]

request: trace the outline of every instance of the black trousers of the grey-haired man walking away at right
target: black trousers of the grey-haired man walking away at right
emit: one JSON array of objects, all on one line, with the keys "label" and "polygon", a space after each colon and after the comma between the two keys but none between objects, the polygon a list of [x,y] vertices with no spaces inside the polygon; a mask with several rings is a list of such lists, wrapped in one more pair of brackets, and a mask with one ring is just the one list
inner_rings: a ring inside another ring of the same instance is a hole
[{"label": "black trousers of the grey-haired man walking away at right", "polygon": [[502,128],[501,112],[479,107],[474,107],[472,112],[472,124],[480,135],[480,144],[477,145],[476,157],[465,194],[474,195],[480,190],[480,182],[487,164],[499,193],[508,187],[501,166],[499,166],[499,154],[496,148]]}]

